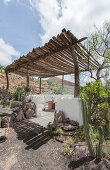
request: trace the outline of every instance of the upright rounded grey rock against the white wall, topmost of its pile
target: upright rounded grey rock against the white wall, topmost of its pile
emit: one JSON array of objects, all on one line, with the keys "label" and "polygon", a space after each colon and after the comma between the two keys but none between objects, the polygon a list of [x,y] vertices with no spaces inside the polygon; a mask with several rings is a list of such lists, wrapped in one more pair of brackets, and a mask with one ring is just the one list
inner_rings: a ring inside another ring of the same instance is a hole
[{"label": "upright rounded grey rock against the white wall, topmost of its pile", "polygon": [[54,114],[54,121],[56,123],[62,123],[65,119],[65,115],[62,111],[59,111],[59,112],[55,112]]}]

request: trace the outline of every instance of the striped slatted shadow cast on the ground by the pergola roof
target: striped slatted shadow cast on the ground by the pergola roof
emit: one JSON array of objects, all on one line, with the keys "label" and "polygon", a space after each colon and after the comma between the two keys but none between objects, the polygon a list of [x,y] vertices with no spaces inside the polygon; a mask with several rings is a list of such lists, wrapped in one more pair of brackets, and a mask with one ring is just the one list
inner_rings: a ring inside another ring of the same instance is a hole
[{"label": "striped slatted shadow cast on the ground by the pergola roof", "polygon": [[13,128],[17,133],[18,140],[23,140],[27,145],[25,147],[27,150],[36,150],[50,140],[44,127],[30,121],[14,123]]}]

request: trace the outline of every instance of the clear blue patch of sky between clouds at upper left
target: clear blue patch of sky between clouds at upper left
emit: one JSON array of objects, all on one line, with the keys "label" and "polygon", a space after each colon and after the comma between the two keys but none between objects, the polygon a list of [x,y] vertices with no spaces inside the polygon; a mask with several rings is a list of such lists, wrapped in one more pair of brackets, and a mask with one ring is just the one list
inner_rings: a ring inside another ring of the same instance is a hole
[{"label": "clear blue patch of sky between clouds at upper left", "polygon": [[20,55],[41,45],[41,32],[37,12],[33,15],[28,6],[16,0],[7,4],[0,0],[0,37],[19,51]]}]

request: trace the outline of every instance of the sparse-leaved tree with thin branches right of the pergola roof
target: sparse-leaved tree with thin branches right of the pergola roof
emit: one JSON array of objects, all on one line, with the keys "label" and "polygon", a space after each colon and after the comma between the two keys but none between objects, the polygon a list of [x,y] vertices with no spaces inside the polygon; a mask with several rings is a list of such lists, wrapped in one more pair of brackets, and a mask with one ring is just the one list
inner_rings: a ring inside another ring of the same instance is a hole
[{"label": "sparse-leaved tree with thin branches right of the pergola roof", "polygon": [[[89,46],[90,53],[100,63],[95,76],[93,71],[89,70],[90,77],[100,80],[109,73],[107,68],[110,67],[110,22],[105,22],[101,29],[96,27],[96,31],[90,35],[86,43]],[[105,70],[102,73],[103,69]]]}]

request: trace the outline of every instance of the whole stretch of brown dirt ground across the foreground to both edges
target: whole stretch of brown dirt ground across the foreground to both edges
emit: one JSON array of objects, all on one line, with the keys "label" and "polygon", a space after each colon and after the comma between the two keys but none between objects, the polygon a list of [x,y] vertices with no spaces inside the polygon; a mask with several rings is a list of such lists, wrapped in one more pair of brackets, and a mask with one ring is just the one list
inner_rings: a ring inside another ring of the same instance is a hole
[{"label": "whole stretch of brown dirt ground across the foreground to both edges", "polygon": [[89,157],[67,157],[62,154],[63,144],[47,138],[36,143],[36,135],[22,128],[7,131],[7,140],[0,143],[0,170],[107,170],[106,161],[95,162]]}]

